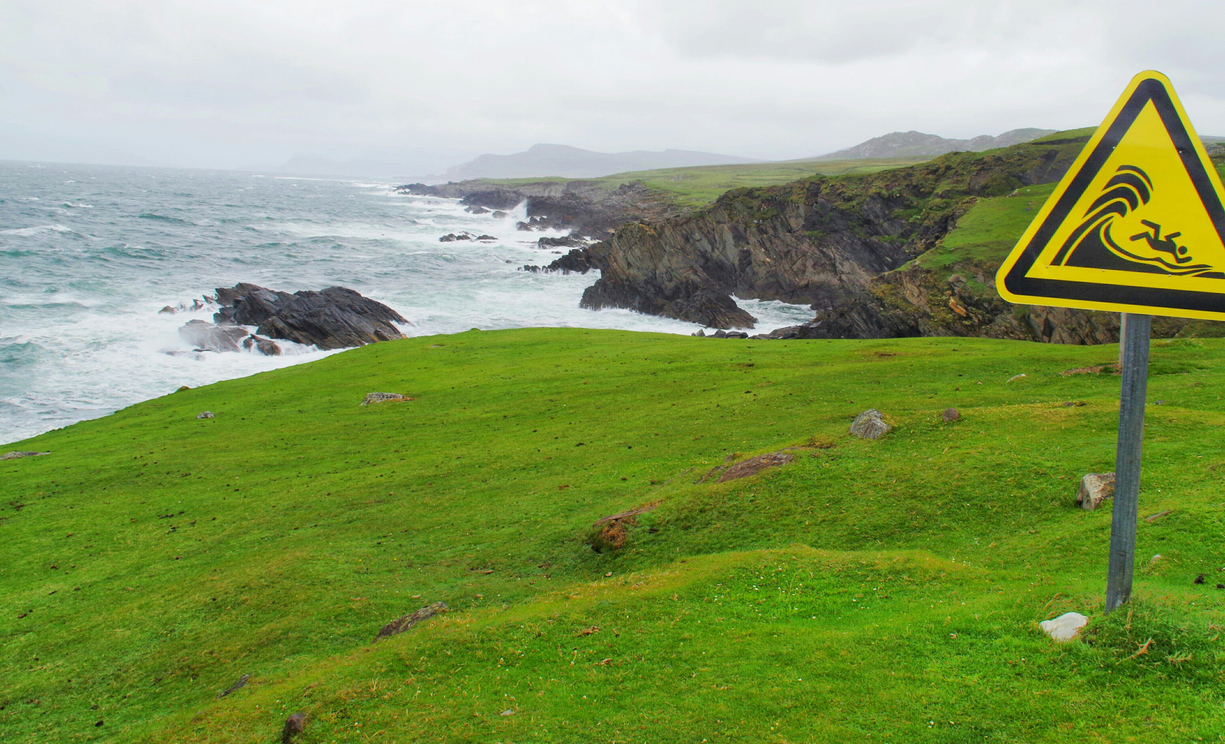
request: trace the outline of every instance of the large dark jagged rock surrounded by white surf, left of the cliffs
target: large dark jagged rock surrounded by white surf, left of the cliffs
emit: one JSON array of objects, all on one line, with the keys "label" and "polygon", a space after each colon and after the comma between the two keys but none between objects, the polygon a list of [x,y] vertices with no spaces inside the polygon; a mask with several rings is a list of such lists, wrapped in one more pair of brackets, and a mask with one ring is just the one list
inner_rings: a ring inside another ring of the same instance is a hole
[{"label": "large dark jagged rock surrounded by white surf, left of the cliffs", "polygon": [[[236,332],[240,333],[238,340],[245,338],[247,332],[227,327],[227,324],[257,325],[256,332],[260,336],[337,349],[403,338],[404,335],[391,324],[408,322],[387,305],[344,287],[289,294],[244,283],[219,288],[217,299],[222,308],[213,319],[222,325],[211,326],[203,321],[191,321],[187,325],[201,324],[205,327],[222,328],[225,333]],[[266,348],[271,351],[271,347]],[[238,351],[238,344],[227,351]]]}]

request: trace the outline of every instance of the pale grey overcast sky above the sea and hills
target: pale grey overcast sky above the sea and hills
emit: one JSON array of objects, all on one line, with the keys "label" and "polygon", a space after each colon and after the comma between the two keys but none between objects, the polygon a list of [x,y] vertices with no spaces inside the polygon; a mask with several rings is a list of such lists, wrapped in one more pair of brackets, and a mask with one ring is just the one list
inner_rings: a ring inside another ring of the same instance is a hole
[{"label": "pale grey overcast sky above the sea and hills", "polygon": [[0,158],[799,158],[1098,124],[1144,69],[1225,135],[1221,28],[1220,0],[0,0]]}]

